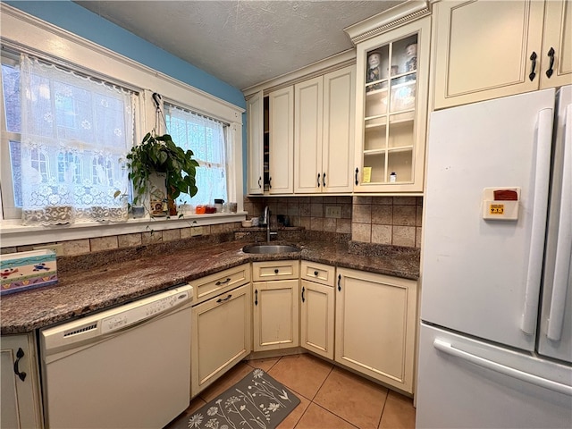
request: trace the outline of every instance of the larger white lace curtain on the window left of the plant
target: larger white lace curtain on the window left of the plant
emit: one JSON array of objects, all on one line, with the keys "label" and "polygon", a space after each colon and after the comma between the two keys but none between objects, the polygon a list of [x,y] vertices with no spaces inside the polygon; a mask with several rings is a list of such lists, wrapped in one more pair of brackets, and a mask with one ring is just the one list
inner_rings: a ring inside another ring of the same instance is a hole
[{"label": "larger white lace curtain on the window left of the plant", "polygon": [[136,97],[21,55],[23,224],[127,219]]}]

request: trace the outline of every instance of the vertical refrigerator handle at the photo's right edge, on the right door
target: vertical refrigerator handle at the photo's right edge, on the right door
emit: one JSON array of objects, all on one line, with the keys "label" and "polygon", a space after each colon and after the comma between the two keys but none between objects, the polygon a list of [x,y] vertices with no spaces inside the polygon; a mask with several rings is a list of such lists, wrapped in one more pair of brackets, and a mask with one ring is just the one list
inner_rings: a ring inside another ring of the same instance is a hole
[{"label": "vertical refrigerator handle at the photo's right edge, on the right door", "polygon": [[559,227],[556,244],[556,261],[552,283],[551,310],[548,315],[546,336],[560,341],[564,325],[568,270],[572,251],[572,105],[566,109],[564,137],[564,168],[562,170],[562,191],[560,194]]}]

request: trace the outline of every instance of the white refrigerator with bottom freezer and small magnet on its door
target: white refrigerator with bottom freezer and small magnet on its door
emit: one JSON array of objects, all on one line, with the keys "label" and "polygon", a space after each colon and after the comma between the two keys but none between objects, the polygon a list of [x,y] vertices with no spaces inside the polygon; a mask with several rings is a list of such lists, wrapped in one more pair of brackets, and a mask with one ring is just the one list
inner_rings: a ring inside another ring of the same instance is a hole
[{"label": "white refrigerator with bottom freezer and small magnet on its door", "polygon": [[572,427],[572,87],[433,112],[416,428]]}]

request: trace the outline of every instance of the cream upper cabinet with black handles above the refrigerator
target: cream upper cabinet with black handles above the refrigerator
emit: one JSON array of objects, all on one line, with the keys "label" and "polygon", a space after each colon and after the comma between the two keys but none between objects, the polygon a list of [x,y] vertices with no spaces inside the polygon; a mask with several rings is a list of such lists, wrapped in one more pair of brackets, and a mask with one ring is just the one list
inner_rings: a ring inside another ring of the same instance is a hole
[{"label": "cream upper cabinet with black handles above the refrigerator", "polygon": [[434,108],[572,83],[569,1],[433,6]]}]

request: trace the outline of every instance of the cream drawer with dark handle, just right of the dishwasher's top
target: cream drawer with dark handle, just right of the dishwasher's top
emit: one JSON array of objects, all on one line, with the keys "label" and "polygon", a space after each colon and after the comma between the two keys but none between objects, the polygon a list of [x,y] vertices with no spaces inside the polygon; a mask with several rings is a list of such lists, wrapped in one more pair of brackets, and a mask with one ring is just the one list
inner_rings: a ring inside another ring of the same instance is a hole
[{"label": "cream drawer with dark handle, just right of the dishwasher's top", "polygon": [[193,287],[193,306],[248,282],[250,282],[249,264],[234,266],[189,282]]}]

